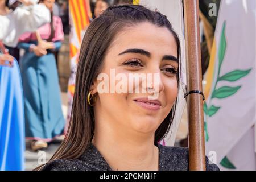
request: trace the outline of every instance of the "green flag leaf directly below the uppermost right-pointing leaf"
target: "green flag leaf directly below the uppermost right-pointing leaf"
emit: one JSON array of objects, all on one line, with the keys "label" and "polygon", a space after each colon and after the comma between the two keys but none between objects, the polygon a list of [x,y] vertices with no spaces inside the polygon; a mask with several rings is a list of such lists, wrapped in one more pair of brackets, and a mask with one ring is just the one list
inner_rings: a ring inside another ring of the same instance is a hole
[{"label": "green flag leaf directly below the uppermost right-pointing leaf", "polygon": [[212,94],[212,98],[226,98],[235,94],[241,86],[230,87],[230,86],[222,86],[221,88],[214,90]]}]

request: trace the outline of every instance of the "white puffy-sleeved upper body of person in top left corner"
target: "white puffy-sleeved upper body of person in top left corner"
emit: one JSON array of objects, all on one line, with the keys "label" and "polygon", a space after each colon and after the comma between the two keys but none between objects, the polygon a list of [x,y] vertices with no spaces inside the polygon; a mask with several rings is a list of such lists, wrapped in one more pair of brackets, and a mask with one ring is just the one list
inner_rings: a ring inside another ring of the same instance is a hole
[{"label": "white puffy-sleeved upper body of person in top left corner", "polygon": [[41,4],[34,5],[35,2],[34,0],[0,1],[0,40],[5,38],[2,40],[3,44],[16,60],[19,60],[19,50],[16,48],[19,36],[50,21],[46,7]]}]

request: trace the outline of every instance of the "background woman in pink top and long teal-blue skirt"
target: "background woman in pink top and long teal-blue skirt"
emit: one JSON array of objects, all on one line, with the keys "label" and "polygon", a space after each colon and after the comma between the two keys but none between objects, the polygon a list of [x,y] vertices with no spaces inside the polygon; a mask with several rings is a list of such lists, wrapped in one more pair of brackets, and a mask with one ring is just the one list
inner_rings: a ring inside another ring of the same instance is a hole
[{"label": "background woman in pink top and long teal-blue skirt", "polygon": [[35,33],[20,37],[18,48],[26,52],[20,60],[24,90],[26,139],[31,139],[32,150],[46,148],[47,142],[63,134],[64,117],[61,110],[59,79],[53,51],[64,39],[61,19],[52,15],[54,0],[40,1],[51,11],[51,23],[37,31],[42,38],[38,45]]}]

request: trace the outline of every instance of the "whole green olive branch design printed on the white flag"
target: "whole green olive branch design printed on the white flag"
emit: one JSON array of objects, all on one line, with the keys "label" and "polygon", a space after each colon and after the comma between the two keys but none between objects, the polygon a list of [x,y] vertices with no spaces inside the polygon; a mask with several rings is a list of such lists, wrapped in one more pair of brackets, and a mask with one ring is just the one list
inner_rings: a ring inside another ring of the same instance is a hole
[{"label": "whole green olive branch design printed on the white flag", "polygon": [[[219,43],[217,80],[214,83],[213,93],[212,93],[212,96],[210,97],[209,102],[213,98],[223,99],[223,98],[226,98],[226,97],[233,96],[242,87],[240,85],[240,86],[235,86],[235,87],[222,86],[220,88],[217,88],[218,82],[220,82],[220,81],[234,82],[234,81],[240,80],[241,78],[248,75],[251,72],[251,69],[252,69],[252,68],[247,69],[247,70],[236,69],[234,71],[226,73],[225,75],[220,76],[220,70],[221,70],[221,66],[222,66],[222,63],[223,63],[223,60],[224,60],[224,57],[225,57],[226,46],[227,46],[226,36],[225,36],[225,28],[226,28],[226,21],[222,25],[222,31],[221,31],[221,37],[220,37],[220,43]],[[216,114],[218,112],[218,110],[221,109],[221,106],[214,106],[214,105],[208,106],[207,103],[204,102],[203,108],[204,108],[205,115],[208,115],[209,117],[212,117],[214,114]],[[208,142],[209,134],[208,134],[208,127],[207,127],[207,122],[206,121],[204,121],[204,131],[205,131],[205,140]],[[225,158],[223,158],[221,160],[220,164],[222,166],[226,167],[226,168],[229,168],[229,169],[236,169],[236,167],[228,160],[228,158],[226,156],[225,156]]]}]

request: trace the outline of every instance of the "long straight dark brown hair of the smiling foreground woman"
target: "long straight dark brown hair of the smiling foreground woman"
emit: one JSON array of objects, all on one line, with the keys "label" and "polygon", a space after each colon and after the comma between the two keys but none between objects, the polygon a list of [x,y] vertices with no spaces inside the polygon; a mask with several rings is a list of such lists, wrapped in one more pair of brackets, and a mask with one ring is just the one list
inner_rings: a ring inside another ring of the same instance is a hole
[{"label": "long straight dark brown hair of the smiling foreground woman", "polygon": [[[141,5],[115,5],[108,7],[100,17],[93,20],[82,40],[71,120],[67,135],[49,162],[55,159],[77,159],[88,148],[93,138],[95,125],[93,106],[90,106],[86,101],[90,86],[100,73],[106,51],[118,32],[125,27],[133,27],[143,22],[150,22],[155,26],[168,28],[176,40],[177,55],[180,58],[179,38],[166,16]],[[180,66],[177,73],[178,85],[179,80]],[[155,131],[155,144],[162,140],[170,130],[176,104],[177,100],[170,113]],[[43,166],[40,166],[36,169],[42,168]]]}]

